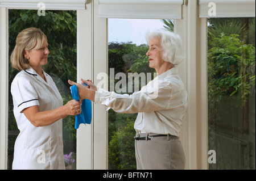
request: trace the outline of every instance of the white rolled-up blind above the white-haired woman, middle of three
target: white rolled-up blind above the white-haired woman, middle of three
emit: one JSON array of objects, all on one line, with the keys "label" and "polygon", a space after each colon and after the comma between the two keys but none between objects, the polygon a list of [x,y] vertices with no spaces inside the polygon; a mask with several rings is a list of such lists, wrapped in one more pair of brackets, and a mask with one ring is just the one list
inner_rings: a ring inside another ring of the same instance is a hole
[{"label": "white rolled-up blind above the white-haired woman, middle of three", "polygon": [[181,19],[183,0],[99,0],[100,18]]}]

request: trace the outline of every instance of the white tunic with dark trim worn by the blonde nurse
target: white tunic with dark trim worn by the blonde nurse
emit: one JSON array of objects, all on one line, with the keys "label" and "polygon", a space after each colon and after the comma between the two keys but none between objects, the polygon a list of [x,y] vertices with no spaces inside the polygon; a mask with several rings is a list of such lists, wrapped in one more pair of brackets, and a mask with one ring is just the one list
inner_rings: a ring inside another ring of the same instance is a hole
[{"label": "white tunic with dark trim worn by the blonde nurse", "polygon": [[46,81],[31,67],[20,71],[11,83],[14,116],[19,135],[14,146],[13,169],[65,169],[62,119],[46,127],[34,127],[24,108],[36,106],[49,111],[63,106],[63,99],[52,78]]}]

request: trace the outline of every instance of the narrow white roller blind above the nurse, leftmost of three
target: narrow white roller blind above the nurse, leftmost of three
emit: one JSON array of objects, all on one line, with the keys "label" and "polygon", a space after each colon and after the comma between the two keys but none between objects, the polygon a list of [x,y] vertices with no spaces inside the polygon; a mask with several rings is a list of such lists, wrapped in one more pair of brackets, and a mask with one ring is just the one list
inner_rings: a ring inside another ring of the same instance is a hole
[{"label": "narrow white roller blind above the nurse, leftmost of three", "polygon": [[10,9],[80,10],[86,0],[0,0],[0,7]]}]

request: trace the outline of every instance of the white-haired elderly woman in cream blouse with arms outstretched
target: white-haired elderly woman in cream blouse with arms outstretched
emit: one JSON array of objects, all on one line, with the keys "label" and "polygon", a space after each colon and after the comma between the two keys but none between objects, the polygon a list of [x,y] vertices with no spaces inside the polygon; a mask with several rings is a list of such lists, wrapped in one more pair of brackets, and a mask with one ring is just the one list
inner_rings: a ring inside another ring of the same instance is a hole
[{"label": "white-haired elderly woman in cream blouse with arms outstretched", "polygon": [[[187,108],[187,91],[177,74],[183,61],[181,39],[175,33],[147,32],[150,68],[158,76],[132,95],[97,89],[89,80],[79,87],[81,99],[104,104],[118,113],[137,113],[134,123],[137,169],[184,169],[184,151],[179,140]],[[153,88],[152,88],[153,87]]]}]

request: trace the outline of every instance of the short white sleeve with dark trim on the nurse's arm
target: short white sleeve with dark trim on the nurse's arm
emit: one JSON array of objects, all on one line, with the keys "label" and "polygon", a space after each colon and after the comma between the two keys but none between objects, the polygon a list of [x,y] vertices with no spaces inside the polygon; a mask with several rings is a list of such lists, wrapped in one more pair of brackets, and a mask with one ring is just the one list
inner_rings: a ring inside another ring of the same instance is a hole
[{"label": "short white sleeve with dark trim on the nurse's arm", "polygon": [[11,83],[11,95],[13,95],[14,106],[19,112],[22,112],[24,108],[39,106],[38,93],[29,78],[15,77]]}]

